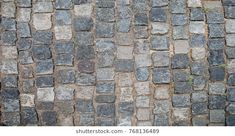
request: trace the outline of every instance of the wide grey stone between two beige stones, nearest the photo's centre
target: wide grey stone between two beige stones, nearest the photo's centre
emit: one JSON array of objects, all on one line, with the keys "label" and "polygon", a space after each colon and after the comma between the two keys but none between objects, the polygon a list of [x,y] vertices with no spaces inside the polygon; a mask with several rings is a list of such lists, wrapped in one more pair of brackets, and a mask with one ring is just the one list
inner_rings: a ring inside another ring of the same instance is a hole
[{"label": "wide grey stone between two beige stones, nearest the photo's centre", "polygon": [[134,70],[134,61],[130,59],[118,59],[115,61],[114,66],[116,72],[132,72]]}]

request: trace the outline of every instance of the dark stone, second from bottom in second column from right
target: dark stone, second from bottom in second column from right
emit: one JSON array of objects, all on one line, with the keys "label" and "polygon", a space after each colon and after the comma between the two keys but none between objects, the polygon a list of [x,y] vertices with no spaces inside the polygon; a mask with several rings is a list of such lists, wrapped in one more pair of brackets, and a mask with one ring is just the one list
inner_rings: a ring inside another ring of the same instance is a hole
[{"label": "dark stone, second from bottom in second column from right", "polygon": [[209,108],[210,109],[224,109],[225,101],[226,101],[225,96],[210,95],[209,96]]}]

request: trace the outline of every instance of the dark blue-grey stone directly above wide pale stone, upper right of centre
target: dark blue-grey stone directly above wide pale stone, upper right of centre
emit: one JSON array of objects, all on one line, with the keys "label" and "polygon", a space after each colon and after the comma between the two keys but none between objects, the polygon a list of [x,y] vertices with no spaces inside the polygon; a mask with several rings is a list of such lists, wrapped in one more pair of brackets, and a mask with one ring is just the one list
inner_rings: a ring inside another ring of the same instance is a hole
[{"label": "dark blue-grey stone directly above wide pale stone, upper right of centre", "polygon": [[152,8],[150,12],[150,19],[153,22],[166,22],[166,10],[163,8]]}]

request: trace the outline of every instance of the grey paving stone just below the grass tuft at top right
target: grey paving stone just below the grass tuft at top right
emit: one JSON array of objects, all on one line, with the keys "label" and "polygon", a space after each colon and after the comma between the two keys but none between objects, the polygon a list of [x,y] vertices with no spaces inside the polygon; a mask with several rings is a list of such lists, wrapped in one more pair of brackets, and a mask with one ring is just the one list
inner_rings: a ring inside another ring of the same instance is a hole
[{"label": "grey paving stone just below the grass tuft at top right", "polygon": [[207,14],[208,24],[220,24],[224,23],[224,14],[219,11],[209,11]]}]

